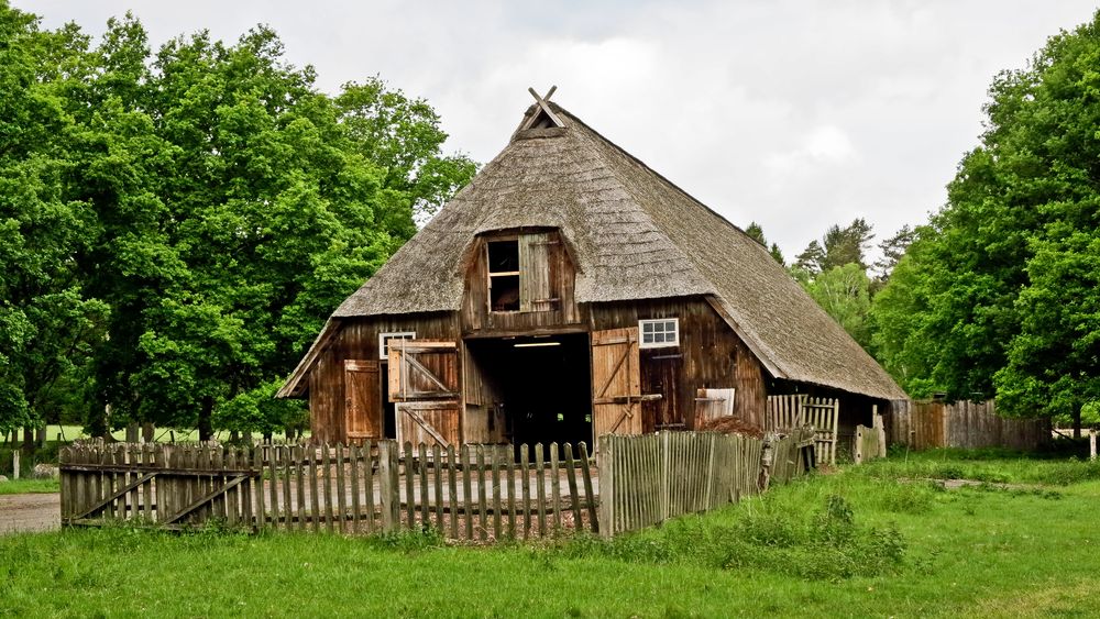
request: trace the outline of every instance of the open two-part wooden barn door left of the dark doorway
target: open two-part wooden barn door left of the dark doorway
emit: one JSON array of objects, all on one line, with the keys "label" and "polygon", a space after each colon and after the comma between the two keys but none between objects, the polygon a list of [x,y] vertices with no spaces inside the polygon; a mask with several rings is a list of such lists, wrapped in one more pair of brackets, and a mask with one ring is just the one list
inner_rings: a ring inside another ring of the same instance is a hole
[{"label": "open two-part wooden barn door left of the dark doorway", "polygon": [[397,441],[459,442],[459,347],[454,342],[396,340],[389,344],[389,401]]}]

